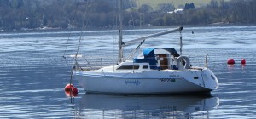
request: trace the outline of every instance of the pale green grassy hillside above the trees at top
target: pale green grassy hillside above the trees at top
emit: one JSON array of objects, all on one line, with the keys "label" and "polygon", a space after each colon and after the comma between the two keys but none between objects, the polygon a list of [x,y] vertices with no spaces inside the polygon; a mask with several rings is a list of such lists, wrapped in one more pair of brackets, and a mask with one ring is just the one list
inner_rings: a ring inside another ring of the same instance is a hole
[{"label": "pale green grassy hillside above the trees at top", "polygon": [[178,8],[179,6],[184,6],[186,3],[194,3],[195,8],[200,8],[201,6],[205,6],[210,3],[211,0],[136,0],[137,6],[142,4],[148,4],[153,8],[160,3],[174,3],[174,6]]}]

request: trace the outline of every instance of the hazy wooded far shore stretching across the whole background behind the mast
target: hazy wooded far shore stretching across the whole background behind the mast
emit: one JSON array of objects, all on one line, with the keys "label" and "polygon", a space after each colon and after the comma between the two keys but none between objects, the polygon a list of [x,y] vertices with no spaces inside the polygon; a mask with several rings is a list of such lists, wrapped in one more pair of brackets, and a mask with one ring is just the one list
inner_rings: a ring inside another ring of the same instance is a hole
[{"label": "hazy wooded far shore stretching across the whole background behind the mast", "polygon": [[[116,26],[117,4],[117,0],[0,0],[0,30]],[[170,3],[157,8],[147,4],[137,8],[134,0],[123,0],[123,4],[125,26],[256,22],[255,0],[212,0],[205,7],[188,3],[183,11],[172,14],[168,12],[175,7]]]}]

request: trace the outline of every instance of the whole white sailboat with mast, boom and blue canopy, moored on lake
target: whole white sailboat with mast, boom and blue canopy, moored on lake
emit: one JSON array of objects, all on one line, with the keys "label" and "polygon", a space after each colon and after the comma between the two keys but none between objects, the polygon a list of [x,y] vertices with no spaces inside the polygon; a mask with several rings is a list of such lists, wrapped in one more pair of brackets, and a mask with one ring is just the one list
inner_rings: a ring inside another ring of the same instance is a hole
[{"label": "whole white sailboat with mast, boom and blue canopy, moored on lake", "polygon": [[[181,33],[183,27],[123,42],[121,6],[122,2],[119,0],[119,61],[117,65],[99,66],[97,69],[84,68],[76,60],[79,55],[74,55],[73,77],[86,93],[210,93],[218,88],[218,78],[207,66],[191,66],[189,58],[182,55],[182,37],[180,37],[180,54],[174,48],[145,48],[141,54],[131,59],[145,40],[173,32]],[[123,48],[133,42],[140,43],[125,59]]]}]

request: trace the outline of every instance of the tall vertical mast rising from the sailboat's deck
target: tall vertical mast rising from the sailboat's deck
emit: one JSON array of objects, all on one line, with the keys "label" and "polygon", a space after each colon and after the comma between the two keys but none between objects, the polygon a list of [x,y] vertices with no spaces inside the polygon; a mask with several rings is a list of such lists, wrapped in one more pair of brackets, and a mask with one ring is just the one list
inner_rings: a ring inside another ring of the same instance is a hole
[{"label": "tall vertical mast rising from the sailboat's deck", "polygon": [[124,55],[123,55],[123,22],[122,22],[122,0],[119,0],[119,58],[118,64],[123,62]]}]

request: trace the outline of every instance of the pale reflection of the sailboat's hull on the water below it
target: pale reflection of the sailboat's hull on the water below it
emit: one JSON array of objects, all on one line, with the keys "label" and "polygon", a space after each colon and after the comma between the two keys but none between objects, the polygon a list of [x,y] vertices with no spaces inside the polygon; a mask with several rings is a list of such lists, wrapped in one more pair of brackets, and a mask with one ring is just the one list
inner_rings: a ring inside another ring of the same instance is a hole
[{"label": "pale reflection of the sailboat's hull on the water below it", "polygon": [[77,118],[206,118],[219,105],[209,96],[138,96],[84,94]]}]

